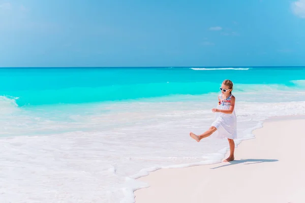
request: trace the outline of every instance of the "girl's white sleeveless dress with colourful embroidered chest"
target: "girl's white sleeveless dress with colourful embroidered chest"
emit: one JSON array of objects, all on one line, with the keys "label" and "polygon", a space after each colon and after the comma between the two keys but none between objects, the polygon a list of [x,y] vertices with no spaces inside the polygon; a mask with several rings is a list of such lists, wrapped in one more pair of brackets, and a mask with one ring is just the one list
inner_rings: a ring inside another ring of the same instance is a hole
[{"label": "girl's white sleeveless dress with colourful embroidered chest", "polygon": [[[226,98],[222,99],[222,94],[218,96],[218,106],[217,109],[228,110],[231,106],[231,98],[232,94]],[[237,125],[236,125],[236,114],[235,110],[233,110],[232,114],[224,114],[224,113],[216,113],[216,119],[212,123],[212,126],[216,127],[215,131],[216,137],[218,138],[229,138],[236,139],[237,138]]]}]

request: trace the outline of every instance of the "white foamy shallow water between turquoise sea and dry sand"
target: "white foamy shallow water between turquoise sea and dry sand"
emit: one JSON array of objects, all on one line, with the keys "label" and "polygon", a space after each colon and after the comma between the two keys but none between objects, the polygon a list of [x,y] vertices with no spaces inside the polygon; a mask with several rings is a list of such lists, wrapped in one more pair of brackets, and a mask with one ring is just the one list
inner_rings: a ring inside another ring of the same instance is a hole
[{"label": "white foamy shallow water between turquoise sea and dry sand", "polygon": [[[253,139],[252,130],[268,117],[305,114],[305,101],[293,94],[283,96],[281,88],[237,91],[236,145]],[[189,137],[214,120],[217,94],[204,96],[22,109],[13,98],[0,100],[13,110],[0,119],[2,201],[134,202],[133,191],[149,186],[138,177],[220,162],[226,140],[211,136],[197,143]]]}]

